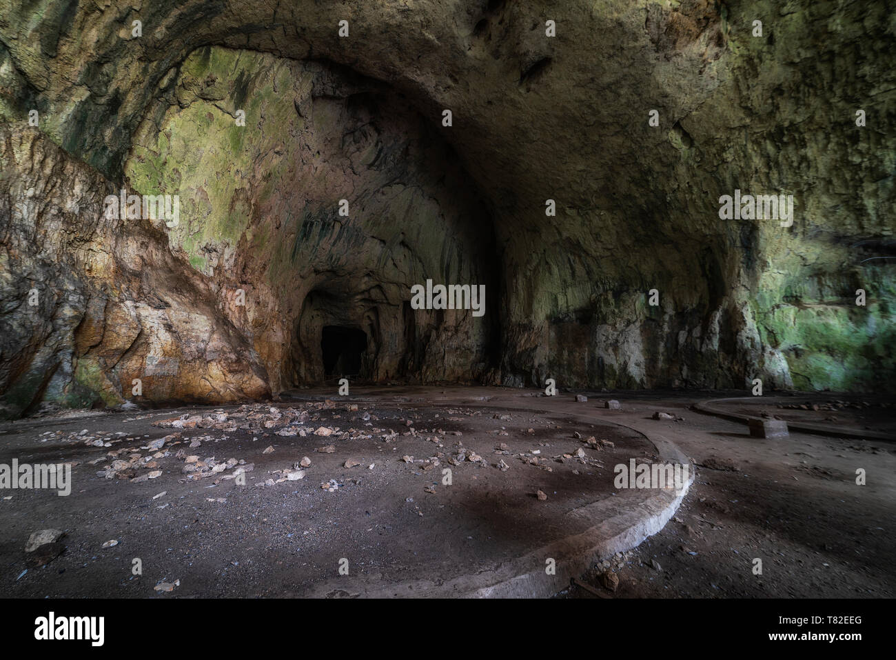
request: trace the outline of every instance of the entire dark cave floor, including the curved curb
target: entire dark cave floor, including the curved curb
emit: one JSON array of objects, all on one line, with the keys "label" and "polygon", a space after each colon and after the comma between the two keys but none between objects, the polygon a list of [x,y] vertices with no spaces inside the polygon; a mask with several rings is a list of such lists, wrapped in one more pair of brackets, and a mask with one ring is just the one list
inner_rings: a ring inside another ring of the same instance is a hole
[{"label": "entire dark cave floor, including the curved curb", "polygon": [[[754,439],[744,424],[688,409],[732,393],[586,394],[589,401],[579,403],[566,392],[547,397],[508,388],[358,387],[350,397],[330,390],[285,393],[277,404],[244,409],[258,420],[231,418],[218,424],[223,428],[153,424],[185,413],[238,416],[239,406],[6,423],[0,426],[0,464],[18,458],[77,465],[68,497],[0,491],[0,591],[23,597],[801,597],[896,591],[888,556],[896,540],[892,444],[801,433]],[[324,403],[327,396],[332,404]],[[621,410],[602,407],[610,397],[622,403]],[[770,413],[785,410],[767,398]],[[349,410],[352,405],[358,410]],[[273,421],[289,409],[307,417]],[[656,411],[684,419],[652,420]],[[891,413],[872,405],[866,421],[886,430]],[[246,424],[257,429],[239,428]],[[314,435],[322,426],[338,430]],[[284,428],[304,430],[306,437],[278,435]],[[108,439],[110,446],[88,446],[86,438]],[[162,438],[168,440],[158,451],[139,448]],[[335,451],[316,451],[327,445]],[[264,453],[267,447],[272,451]],[[582,457],[576,455],[580,448]],[[465,456],[459,462],[461,449],[484,460]],[[98,474],[113,460],[138,453],[140,461],[121,471],[135,481]],[[200,478],[184,472],[188,456],[206,463],[206,472],[228,458],[254,469],[245,473],[245,486],[228,478],[239,465]],[[304,477],[289,481],[305,456],[311,465]],[[697,467],[684,499],[613,486],[613,466],[630,457],[671,462],[685,456]],[[98,459],[104,460],[90,465]],[[502,460],[506,471],[497,466]],[[358,465],[346,467],[346,461]],[[858,467],[866,469],[865,486],[856,485]],[[446,468],[451,485],[442,481]],[[157,470],[158,476],[146,478]],[[547,499],[538,499],[537,491]],[[65,531],[65,551],[46,566],[29,568],[24,545],[42,528]],[[118,543],[102,548],[110,540]],[[142,575],[133,574],[135,558]],[[757,558],[762,575],[753,572]],[[545,570],[551,559],[553,575]],[[348,575],[340,575],[342,560],[348,560]],[[618,580],[615,591],[607,588],[615,586],[607,573]],[[568,588],[570,577],[586,586]],[[178,580],[171,592],[155,588]]]}]

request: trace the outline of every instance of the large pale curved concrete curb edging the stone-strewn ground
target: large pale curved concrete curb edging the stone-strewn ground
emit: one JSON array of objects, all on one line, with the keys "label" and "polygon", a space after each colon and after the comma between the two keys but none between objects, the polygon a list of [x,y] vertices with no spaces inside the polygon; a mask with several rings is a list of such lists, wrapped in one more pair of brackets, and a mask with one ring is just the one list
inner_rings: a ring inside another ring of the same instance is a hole
[{"label": "large pale curved concrete curb edging the stone-strewn ground", "polygon": [[[590,415],[582,414],[582,417]],[[602,423],[616,423],[607,422],[603,418],[592,419],[599,419]],[[636,508],[631,504],[616,504],[613,498],[609,498],[574,509],[567,515],[599,522],[580,534],[559,539],[519,558],[504,561],[494,569],[439,582],[410,580],[371,584],[362,577],[347,576],[314,586],[305,596],[324,597],[338,591],[367,598],[547,598],[563,591],[569,586],[572,577],[581,577],[594,561],[606,559],[616,552],[631,550],[648,536],[657,534],[675,514],[694,483],[694,465],[671,440],[652,432],[648,436],[644,431],[625,424],[616,426],[633,430],[648,439],[656,447],[659,462],[688,465],[688,480],[682,489],[658,490]],[[555,575],[547,575],[547,559],[555,560]]]}]

